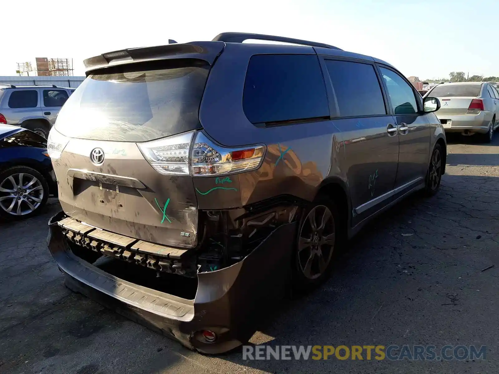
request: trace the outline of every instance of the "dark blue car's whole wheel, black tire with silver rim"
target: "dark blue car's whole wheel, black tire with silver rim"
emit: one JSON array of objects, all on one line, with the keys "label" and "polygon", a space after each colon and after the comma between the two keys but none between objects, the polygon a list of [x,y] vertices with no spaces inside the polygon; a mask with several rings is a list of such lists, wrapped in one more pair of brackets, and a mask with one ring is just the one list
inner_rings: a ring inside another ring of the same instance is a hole
[{"label": "dark blue car's whole wheel, black tire with silver rim", "polygon": [[0,172],[1,218],[29,218],[40,211],[47,198],[47,181],[33,168],[15,166]]}]

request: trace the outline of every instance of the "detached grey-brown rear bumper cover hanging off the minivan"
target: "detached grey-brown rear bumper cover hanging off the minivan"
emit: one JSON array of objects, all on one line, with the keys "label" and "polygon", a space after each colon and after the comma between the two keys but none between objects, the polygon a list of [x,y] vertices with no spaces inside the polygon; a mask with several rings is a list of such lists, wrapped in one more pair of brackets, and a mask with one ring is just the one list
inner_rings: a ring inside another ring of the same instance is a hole
[{"label": "detached grey-brown rear bumper cover hanging off the minivan", "polygon": [[[50,218],[47,245],[65,284],[199,352],[223,353],[247,342],[289,283],[295,222],[277,227],[240,262],[198,273],[196,297],[188,300],[119,279],[74,255],[57,224],[64,217],[60,211]],[[217,341],[204,341],[201,330],[214,331]]]}]

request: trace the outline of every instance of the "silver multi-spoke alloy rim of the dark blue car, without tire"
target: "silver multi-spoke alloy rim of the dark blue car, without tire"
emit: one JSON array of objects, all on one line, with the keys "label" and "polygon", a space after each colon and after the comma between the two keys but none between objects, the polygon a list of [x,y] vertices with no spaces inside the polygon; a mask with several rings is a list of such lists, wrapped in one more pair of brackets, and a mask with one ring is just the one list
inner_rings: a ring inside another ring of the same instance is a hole
[{"label": "silver multi-spoke alloy rim of the dark blue car, without tire", "polygon": [[43,200],[43,186],[27,173],[12,174],[0,183],[0,208],[12,215],[36,210]]}]

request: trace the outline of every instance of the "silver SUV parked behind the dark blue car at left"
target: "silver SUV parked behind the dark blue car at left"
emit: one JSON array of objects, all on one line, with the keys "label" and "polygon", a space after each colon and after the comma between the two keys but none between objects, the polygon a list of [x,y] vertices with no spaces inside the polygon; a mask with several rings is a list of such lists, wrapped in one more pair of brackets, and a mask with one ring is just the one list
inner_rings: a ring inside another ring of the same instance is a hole
[{"label": "silver SUV parked behind the dark blue car at left", "polygon": [[0,84],[0,124],[20,126],[45,139],[74,88]]}]

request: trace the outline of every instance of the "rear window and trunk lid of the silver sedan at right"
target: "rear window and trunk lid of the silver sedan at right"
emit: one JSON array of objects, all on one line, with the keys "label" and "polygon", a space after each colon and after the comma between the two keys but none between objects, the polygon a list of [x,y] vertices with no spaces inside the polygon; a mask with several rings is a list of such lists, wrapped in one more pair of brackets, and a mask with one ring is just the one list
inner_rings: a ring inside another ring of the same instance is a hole
[{"label": "rear window and trunk lid of the silver sedan at right", "polygon": [[426,96],[437,97],[441,107],[436,115],[467,114],[473,99],[480,95],[480,84],[441,84],[431,90]]}]

